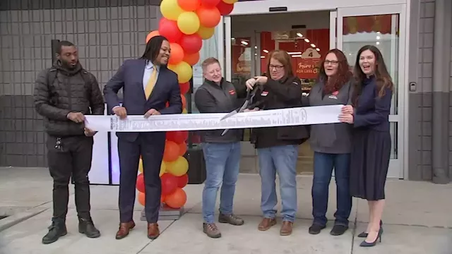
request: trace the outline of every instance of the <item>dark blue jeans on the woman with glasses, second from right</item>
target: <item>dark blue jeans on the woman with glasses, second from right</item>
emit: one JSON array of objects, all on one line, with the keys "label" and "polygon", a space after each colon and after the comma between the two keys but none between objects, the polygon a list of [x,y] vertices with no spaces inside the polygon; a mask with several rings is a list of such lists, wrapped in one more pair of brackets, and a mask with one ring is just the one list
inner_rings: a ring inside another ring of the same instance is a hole
[{"label": "dark blue jeans on the woman with glasses, second from right", "polygon": [[314,179],[312,181],[312,216],[314,224],[325,226],[328,209],[328,192],[331,174],[335,173],[337,187],[337,210],[335,224],[348,226],[352,210],[350,195],[350,154],[327,154],[314,152]]}]

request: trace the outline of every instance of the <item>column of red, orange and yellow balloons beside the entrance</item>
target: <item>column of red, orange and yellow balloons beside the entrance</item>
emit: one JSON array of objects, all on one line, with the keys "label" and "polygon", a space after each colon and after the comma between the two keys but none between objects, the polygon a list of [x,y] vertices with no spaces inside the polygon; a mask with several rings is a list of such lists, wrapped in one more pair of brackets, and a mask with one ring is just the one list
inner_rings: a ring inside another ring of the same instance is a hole
[{"label": "column of red, orange and yellow balloons beside the entrance", "polygon": [[[160,4],[160,19],[158,30],[151,31],[146,37],[146,43],[156,35],[167,38],[171,47],[168,68],[177,73],[183,114],[186,110],[186,92],[190,90],[190,80],[193,75],[191,66],[198,63],[199,51],[203,40],[208,40],[215,33],[215,27],[220,23],[221,16],[229,15],[238,0],[163,0]],[[168,207],[179,209],[185,205],[186,193],[184,187],[189,182],[186,174],[189,162],[185,159],[188,131],[167,132],[165,152],[160,167],[162,181],[161,202]],[[140,159],[136,180],[138,202],[145,204],[145,188],[143,178],[143,160]]]}]

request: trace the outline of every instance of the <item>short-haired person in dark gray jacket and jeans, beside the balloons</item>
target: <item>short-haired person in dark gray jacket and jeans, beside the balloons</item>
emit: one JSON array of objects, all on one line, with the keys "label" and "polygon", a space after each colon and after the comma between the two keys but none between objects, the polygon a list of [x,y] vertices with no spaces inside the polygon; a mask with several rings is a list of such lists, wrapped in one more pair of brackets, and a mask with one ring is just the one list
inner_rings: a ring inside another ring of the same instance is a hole
[{"label": "short-haired person in dark gray jacket and jeans, beside the balloons", "polygon": [[[246,96],[246,87],[234,87],[222,78],[220,62],[208,58],[202,63],[205,81],[195,92],[195,104],[200,113],[228,113],[236,110],[239,98]],[[218,222],[242,225],[244,220],[232,212],[235,183],[239,176],[239,165],[243,130],[200,131],[207,178],[203,189],[203,232],[211,238],[221,237],[214,222],[215,201],[220,193],[220,215]]]}]

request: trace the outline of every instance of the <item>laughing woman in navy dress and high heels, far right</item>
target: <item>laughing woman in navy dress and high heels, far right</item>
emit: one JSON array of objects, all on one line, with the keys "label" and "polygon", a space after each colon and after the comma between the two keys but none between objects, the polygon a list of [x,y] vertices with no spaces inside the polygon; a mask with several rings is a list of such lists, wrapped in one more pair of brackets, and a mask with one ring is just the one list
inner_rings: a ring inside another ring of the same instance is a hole
[{"label": "laughing woman in navy dress and high heels, far right", "polygon": [[355,63],[352,106],[342,109],[339,120],[353,125],[350,158],[350,194],[367,200],[369,224],[359,234],[360,246],[381,241],[381,214],[385,203],[385,183],[391,156],[389,114],[393,82],[381,52],[367,45],[359,49]]}]

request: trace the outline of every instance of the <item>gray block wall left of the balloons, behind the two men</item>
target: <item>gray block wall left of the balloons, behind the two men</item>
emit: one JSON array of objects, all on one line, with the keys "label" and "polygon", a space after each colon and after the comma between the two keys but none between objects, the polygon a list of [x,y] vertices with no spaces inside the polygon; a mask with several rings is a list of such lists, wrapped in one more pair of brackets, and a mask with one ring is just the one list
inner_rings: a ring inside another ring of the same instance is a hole
[{"label": "gray block wall left of the balloons, behind the two men", "polygon": [[[154,6],[150,6],[153,4]],[[51,66],[51,40],[78,46],[102,87],[124,59],[141,54],[157,28],[159,1],[0,1],[0,166],[46,167],[42,117],[32,90]]]}]

